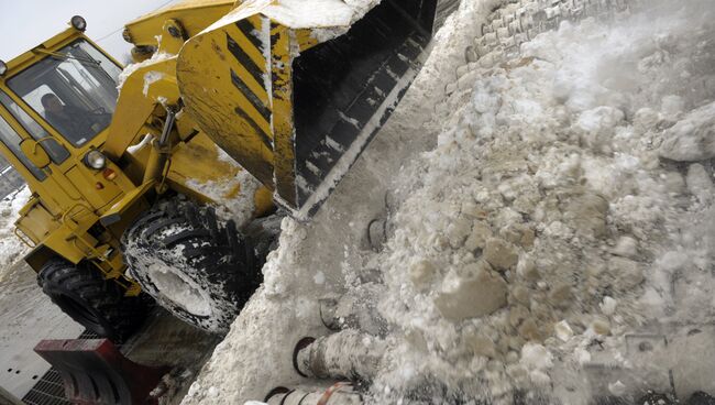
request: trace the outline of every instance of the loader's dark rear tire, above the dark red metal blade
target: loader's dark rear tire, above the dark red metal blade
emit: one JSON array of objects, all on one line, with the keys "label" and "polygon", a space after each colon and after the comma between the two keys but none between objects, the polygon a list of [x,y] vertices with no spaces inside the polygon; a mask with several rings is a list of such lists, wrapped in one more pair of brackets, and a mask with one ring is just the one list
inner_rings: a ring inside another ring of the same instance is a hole
[{"label": "loader's dark rear tire, above the dark red metal blade", "polygon": [[143,324],[151,308],[148,297],[125,297],[119,284],[90,263],[52,259],[37,274],[37,284],[70,318],[117,343]]}]

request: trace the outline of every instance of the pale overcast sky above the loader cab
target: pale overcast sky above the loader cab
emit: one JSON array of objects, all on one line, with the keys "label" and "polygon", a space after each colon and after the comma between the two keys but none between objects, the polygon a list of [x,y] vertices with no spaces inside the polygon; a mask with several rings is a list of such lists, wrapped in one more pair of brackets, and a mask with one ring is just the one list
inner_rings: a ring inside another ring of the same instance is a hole
[{"label": "pale overcast sky above the loader cab", "polygon": [[67,28],[73,15],[87,20],[87,35],[124,62],[131,45],[124,23],[177,0],[0,0],[0,59],[10,61]]}]

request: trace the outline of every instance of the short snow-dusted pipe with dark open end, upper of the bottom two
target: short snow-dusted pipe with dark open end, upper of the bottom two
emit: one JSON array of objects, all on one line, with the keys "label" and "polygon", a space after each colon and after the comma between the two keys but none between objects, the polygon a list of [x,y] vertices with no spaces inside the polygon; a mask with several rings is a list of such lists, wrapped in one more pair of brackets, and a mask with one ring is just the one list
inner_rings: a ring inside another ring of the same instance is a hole
[{"label": "short snow-dusted pipe with dark open end, upper of the bottom two", "polygon": [[343,330],[318,339],[300,339],[293,352],[293,365],[306,377],[370,382],[377,374],[385,349],[382,339]]}]

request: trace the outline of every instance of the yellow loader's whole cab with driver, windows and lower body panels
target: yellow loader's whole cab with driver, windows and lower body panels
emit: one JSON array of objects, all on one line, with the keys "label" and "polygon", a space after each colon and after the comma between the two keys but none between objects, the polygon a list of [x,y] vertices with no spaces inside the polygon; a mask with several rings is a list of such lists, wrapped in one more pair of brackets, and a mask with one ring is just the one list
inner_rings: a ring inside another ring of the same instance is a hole
[{"label": "yellow loader's whole cab with driver, windows and lower body panels", "polygon": [[[121,196],[89,161],[107,138],[121,70],[76,26],[0,63],[0,152],[38,197],[23,212],[76,225]],[[55,227],[25,217],[18,226],[35,243]]]}]

